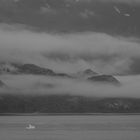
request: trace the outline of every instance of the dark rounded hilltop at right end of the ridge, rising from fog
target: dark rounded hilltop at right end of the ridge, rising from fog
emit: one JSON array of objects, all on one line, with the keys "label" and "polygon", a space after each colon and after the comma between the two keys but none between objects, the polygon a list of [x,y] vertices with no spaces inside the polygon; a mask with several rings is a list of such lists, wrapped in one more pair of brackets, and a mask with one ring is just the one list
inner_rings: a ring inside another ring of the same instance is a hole
[{"label": "dark rounded hilltop at right end of the ridge, rising from fog", "polygon": [[96,83],[120,85],[120,82],[112,75],[97,75],[88,78],[88,80]]}]

